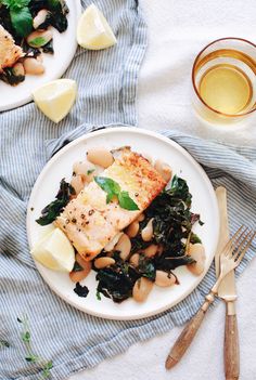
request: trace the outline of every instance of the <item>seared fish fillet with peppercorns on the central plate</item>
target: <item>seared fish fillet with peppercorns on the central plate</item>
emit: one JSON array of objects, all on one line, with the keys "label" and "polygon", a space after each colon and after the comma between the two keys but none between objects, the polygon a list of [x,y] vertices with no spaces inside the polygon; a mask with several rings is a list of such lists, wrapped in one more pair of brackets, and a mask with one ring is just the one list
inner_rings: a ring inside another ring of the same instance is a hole
[{"label": "seared fish fillet with peppercorns on the central plate", "polygon": [[139,210],[123,209],[116,199],[106,204],[106,193],[91,182],[71,200],[56,219],[55,225],[69,238],[85,260],[92,260],[138,215],[165,187],[166,182],[141,155],[125,150],[101,176],[116,181],[129,193]]}]

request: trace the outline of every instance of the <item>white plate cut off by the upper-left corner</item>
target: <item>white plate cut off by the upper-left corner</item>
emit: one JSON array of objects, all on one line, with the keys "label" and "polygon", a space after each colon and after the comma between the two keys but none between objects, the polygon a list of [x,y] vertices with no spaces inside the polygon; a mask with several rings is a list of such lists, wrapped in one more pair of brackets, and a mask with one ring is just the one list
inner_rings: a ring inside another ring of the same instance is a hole
[{"label": "white plate cut off by the upper-left corner", "polygon": [[66,0],[66,3],[69,8],[68,27],[62,34],[52,28],[54,54],[42,53],[46,73],[39,76],[27,75],[25,81],[15,87],[0,80],[0,112],[16,108],[30,102],[34,90],[53,79],[61,78],[69,66],[77,48],[76,27],[81,5],[78,0]]}]

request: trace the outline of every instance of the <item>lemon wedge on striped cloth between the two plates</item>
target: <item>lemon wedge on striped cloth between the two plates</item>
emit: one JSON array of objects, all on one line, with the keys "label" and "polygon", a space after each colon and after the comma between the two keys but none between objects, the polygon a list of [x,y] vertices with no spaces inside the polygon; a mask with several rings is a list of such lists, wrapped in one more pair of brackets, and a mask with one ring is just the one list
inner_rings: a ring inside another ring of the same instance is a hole
[{"label": "lemon wedge on striped cloth between the two plates", "polygon": [[33,93],[38,108],[54,122],[61,121],[76,101],[77,86],[72,79],[56,79]]}]

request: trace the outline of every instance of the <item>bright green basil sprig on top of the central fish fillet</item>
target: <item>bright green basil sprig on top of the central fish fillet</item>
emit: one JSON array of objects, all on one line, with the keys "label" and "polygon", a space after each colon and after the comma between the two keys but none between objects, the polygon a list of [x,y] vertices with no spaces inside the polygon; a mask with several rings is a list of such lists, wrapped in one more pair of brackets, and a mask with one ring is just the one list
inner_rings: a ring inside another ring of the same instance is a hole
[{"label": "bright green basil sprig on top of the central fish fillet", "polygon": [[136,202],[130,198],[128,192],[121,192],[119,184],[114,180],[106,176],[94,176],[94,181],[104,192],[106,192],[107,204],[114,198],[114,196],[117,196],[119,205],[123,209],[130,211],[139,210]]}]

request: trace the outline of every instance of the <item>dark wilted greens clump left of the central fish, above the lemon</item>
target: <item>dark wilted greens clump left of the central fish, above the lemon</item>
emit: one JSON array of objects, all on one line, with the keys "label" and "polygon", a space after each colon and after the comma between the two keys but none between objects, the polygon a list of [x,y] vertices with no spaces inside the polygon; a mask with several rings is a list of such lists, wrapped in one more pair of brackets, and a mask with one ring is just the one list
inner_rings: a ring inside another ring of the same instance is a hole
[{"label": "dark wilted greens clump left of the central fish, above the lemon", "polygon": [[76,192],[72,185],[63,179],[55,196],[56,199],[42,209],[41,217],[37,219],[36,222],[40,225],[52,223],[68,204],[71,197],[75,194]]}]

